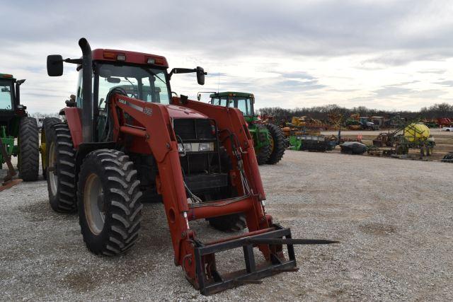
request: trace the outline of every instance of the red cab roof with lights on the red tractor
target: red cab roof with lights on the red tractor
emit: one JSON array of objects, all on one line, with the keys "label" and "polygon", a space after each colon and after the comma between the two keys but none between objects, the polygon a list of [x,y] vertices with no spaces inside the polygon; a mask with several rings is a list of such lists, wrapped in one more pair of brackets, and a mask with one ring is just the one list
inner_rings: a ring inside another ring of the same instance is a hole
[{"label": "red cab roof with lights on the red tractor", "polygon": [[92,52],[93,60],[107,62],[125,62],[142,65],[156,65],[168,68],[165,57],[157,54],[145,54],[144,52],[129,52],[126,50],[96,49]]}]

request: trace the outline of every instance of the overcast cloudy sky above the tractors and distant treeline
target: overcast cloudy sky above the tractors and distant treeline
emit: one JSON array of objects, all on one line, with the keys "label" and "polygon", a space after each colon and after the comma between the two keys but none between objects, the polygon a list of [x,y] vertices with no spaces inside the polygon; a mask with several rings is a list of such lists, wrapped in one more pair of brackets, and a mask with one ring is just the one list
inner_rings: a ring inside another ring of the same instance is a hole
[{"label": "overcast cloudy sky above the tractors and distant treeline", "polygon": [[258,107],[365,105],[419,110],[453,103],[453,1],[2,1],[0,73],[27,79],[29,112],[57,112],[74,66],[50,78],[47,54],[93,49],[160,54],[172,90],[244,91]]}]

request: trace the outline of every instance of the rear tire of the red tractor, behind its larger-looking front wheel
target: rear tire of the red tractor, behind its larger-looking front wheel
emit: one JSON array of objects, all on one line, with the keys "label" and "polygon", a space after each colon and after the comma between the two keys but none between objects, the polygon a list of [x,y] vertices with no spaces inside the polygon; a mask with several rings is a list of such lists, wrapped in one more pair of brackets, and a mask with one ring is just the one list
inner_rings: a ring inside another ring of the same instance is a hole
[{"label": "rear tire of the red tractor, behind its larger-looking front wheel", "polygon": [[47,129],[46,158],[50,207],[60,213],[75,212],[76,154],[67,124],[54,124]]}]

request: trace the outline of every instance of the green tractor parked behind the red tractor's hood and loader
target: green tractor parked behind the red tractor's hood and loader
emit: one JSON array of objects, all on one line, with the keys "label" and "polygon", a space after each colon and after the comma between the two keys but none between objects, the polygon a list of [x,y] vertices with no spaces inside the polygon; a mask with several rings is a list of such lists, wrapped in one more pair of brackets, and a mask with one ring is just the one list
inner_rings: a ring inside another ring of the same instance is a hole
[{"label": "green tractor parked behind the red tractor's hood and loader", "polygon": [[[201,99],[201,93],[197,95]],[[220,92],[210,94],[210,104],[238,108],[248,123],[248,131],[253,138],[258,165],[278,163],[285,153],[285,137],[280,127],[263,122],[255,115],[253,104],[255,97],[252,93]]]}]

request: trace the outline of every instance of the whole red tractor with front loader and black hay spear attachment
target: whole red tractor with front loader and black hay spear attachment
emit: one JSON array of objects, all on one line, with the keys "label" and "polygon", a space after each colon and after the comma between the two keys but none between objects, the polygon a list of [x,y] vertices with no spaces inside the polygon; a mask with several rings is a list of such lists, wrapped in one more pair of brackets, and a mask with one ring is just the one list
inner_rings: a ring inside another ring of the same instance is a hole
[{"label": "whole red tractor with front loader and black hay spear attachment", "polygon": [[[76,102],[63,110],[66,122],[48,127],[46,171],[52,209],[78,211],[88,250],[106,256],[129,250],[139,238],[147,192],[161,196],[175,264],[202,294],[294,269],[294,244],[332,243],[291,239],[289,228],[265,213],[253,141],[239,110],[171,98],[171,76],[195,72],[203,84],[201,67],[168,73],[161,56],[91,51],[84,38],[79,46],[81,59],[47,57],[50,76],[62,75],[63,62],[77,64],[79,85]],[[202,243],[190,228],[195,219],[248,232]],[[233,248],[243,249],[245,270],[221,275],[215,254]]]}]

